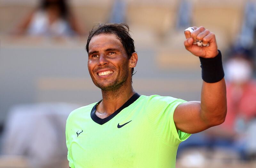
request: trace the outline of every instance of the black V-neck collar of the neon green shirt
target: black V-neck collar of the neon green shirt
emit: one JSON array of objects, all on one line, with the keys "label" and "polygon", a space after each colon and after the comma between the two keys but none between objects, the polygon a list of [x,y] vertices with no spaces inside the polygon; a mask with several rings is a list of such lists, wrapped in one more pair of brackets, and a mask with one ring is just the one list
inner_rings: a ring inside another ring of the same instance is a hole
[{"label": "black V-neck collar of the neon green shirt", "polygon": [[135,93],[134,95],[132,95],[132,97],[127,100],[123,106],[121,106],[119,109],[117,109],[114,113],[112,113],[111,115],[109,115],[108,117],[101,119],[99,118],[96,114],[96,106],[102,101],[100,100],[96,105],[93,106],[92,111],[91,111],[91,118],[94,122],[102,125],[105,124],[106,122],[108,122],[109,120],[111,120],[113,117],[115,117],[120,111],[122,111],[124,108],[130,106],[134,101],[136,101],[138,98],[140,97],[140,95],[138,93]]}]

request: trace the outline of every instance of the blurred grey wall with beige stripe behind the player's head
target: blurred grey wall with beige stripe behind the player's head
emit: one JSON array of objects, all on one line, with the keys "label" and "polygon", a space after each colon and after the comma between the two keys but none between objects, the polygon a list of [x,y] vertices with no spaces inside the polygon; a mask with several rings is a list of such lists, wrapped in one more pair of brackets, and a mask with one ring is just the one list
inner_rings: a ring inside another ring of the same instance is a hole
[{"label": "blurred grey wall with beige stripe behind the player's head", "polygon": [[[0,122],[17,104],[68,102],[84,106],[101,99],[100,89],[93,85],[88,73],[84,47],[2,46],[0,49]],[[156,50],[139,48],[137,52],[135,91],[200,100],[199,65],[194,70],[184,70],[182,66],[161,69],[156,63]]]}]

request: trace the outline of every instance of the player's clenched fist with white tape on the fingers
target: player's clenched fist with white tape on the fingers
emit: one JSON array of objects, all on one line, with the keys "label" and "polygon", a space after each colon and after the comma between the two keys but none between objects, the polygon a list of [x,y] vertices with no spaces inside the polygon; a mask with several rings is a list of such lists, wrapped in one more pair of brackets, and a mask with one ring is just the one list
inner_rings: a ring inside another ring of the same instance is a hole
[{"label": "player's clenched fist with white tape on the fingers", "polygon": [[[215,34],[201,27],[193,27],[195,30],[190,32],[186,30],[184,41],[185,48],[191,52],[193,55],[203,57],[203,58],[213,58],[218,55],[218,47],[215,38]],[[196,40],[202,41],[203,46],[197,46]],[[194,43],[194,44],[193,44]],[[209,43],[209,46],[207,45]],[[208,47],[206,47],[208,46]]]}]

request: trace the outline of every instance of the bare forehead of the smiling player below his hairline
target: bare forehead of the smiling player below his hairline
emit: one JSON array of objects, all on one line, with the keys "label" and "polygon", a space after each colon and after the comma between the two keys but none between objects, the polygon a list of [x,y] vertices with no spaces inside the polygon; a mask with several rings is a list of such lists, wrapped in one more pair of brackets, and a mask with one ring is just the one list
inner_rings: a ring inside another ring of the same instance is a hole
[{"label": "bare forehead of the smiling player below his hairline", "polygon": [[100,50],[116,48],[123,50],[124,46],[119,39],[117,39],[116,34],[99,34],[93,36],[89,43],[89,52],[90,50]]}]

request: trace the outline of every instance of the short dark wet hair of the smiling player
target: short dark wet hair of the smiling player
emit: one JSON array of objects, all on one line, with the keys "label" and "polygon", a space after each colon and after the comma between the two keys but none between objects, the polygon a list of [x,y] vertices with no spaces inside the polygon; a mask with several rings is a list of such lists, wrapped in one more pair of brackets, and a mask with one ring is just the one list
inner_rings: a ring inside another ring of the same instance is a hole
[{"label": "short dark wet hair of the smiling player", "polygon": [[[130,32],[129,26],[125,23],[121,23],[121,24],[100,23],[94,26],[92,30],[89,32],[89,36],[86,44],[86,51],[87,53],[89,52],[89,43],[92,40],[93,36],[96,36],[99,34],[115,34],[117,39],[119,39],[123,44],[126,54],[128,55],[128,59],[130,59],[132,56],[132,53],[135,52],[135,47],[134,47],[134,40],[132,39],[129,32]],[[132,68],[132,75],[134,75],[133,71],[134,71],[134,68]]]}]

